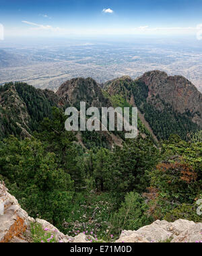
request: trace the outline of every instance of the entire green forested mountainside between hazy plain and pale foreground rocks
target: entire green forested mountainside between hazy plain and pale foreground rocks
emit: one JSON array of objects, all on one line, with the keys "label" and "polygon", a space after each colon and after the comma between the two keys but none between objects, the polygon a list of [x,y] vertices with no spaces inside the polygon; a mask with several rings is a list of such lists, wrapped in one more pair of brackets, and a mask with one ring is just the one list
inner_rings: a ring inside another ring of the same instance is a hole
[{"label": "entire green forested mountainside between hazy plain and pale foreground rocks", "polygon": [[[174,90],[172,98],[184,86],[175,99],[187,103],[168,100],[165,86]],[[139,135],[66,131],[64,109],[79,108],[80,101],[87,107],[138,106]],[[33,218],[69,236],[93,232],[104,241],[155,220],[202,222],[201,131],[195,133],[201,130],[201,94],[186,79],[152,71],[101,88],[78,78],[56,94],[10,83],[0,88],[0,115],[0,181]]]}]

